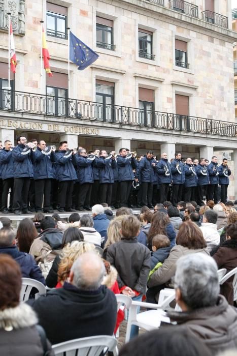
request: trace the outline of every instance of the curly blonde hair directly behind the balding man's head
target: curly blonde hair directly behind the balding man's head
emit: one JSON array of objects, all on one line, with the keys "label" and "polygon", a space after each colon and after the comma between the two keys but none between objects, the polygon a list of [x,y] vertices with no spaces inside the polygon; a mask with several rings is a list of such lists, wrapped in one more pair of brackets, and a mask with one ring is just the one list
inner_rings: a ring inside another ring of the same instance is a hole
[{"label": "curly blonde hair directly behind the balding man's head", "polygon": [[73,241],[67,244],[61,253],[58,265],[58,282],[63,282],[69,276],[74,261],[85,252],[95,251],[95,246],[86,241]]}]

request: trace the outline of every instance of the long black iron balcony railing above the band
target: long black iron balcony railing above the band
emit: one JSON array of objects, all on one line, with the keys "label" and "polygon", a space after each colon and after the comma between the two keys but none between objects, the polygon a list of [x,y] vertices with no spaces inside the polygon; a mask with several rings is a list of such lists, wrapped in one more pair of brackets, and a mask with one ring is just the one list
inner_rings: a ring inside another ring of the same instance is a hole
[{"label": "long black iron balcony railing above the band", "polygon": [[0,90],[0,110],[80,118],[88,122],[106,122],[237,137],[237,125],[210,118],[160,111],[146,110],[145,112],[143,109],[127,106],[103,105],[92,101],[65,99],[5,89]]}]

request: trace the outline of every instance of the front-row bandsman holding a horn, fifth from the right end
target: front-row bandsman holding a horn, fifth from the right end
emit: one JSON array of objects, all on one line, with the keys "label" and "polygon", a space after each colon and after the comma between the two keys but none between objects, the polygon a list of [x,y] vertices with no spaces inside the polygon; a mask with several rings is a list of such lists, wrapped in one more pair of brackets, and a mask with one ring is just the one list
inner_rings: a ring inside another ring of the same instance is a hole
[{"label": "front-row bandsman holding a horn, fifth from the right end", "polygon": [[182,200],[183,184],[185,182],[184,165],[181,162],[181,153],[175,153],[175,159],[171,163],[172,172],[172,195],[171,201],[173,205],[177,206],[178,202]]}]

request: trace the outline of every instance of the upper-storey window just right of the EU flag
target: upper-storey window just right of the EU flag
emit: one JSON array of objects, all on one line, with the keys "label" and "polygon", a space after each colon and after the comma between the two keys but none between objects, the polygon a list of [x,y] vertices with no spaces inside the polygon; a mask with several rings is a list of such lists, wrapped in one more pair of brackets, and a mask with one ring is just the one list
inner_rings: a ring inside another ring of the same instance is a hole
[{"label": "upper-storey window just right of the EU flag", "polygon": [[96,16],[96,47],[115,50],[112,20]]}]

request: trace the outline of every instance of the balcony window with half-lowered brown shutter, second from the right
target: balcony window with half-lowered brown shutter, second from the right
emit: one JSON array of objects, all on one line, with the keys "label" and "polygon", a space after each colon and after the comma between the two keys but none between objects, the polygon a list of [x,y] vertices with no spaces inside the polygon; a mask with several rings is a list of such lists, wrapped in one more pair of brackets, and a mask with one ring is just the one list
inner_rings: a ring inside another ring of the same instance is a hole
[{"label": "balcony window with half-lowered brown shutter, second from the right", "polygon": [[154,90],[139,88],[140,125],[153,126]]}]

